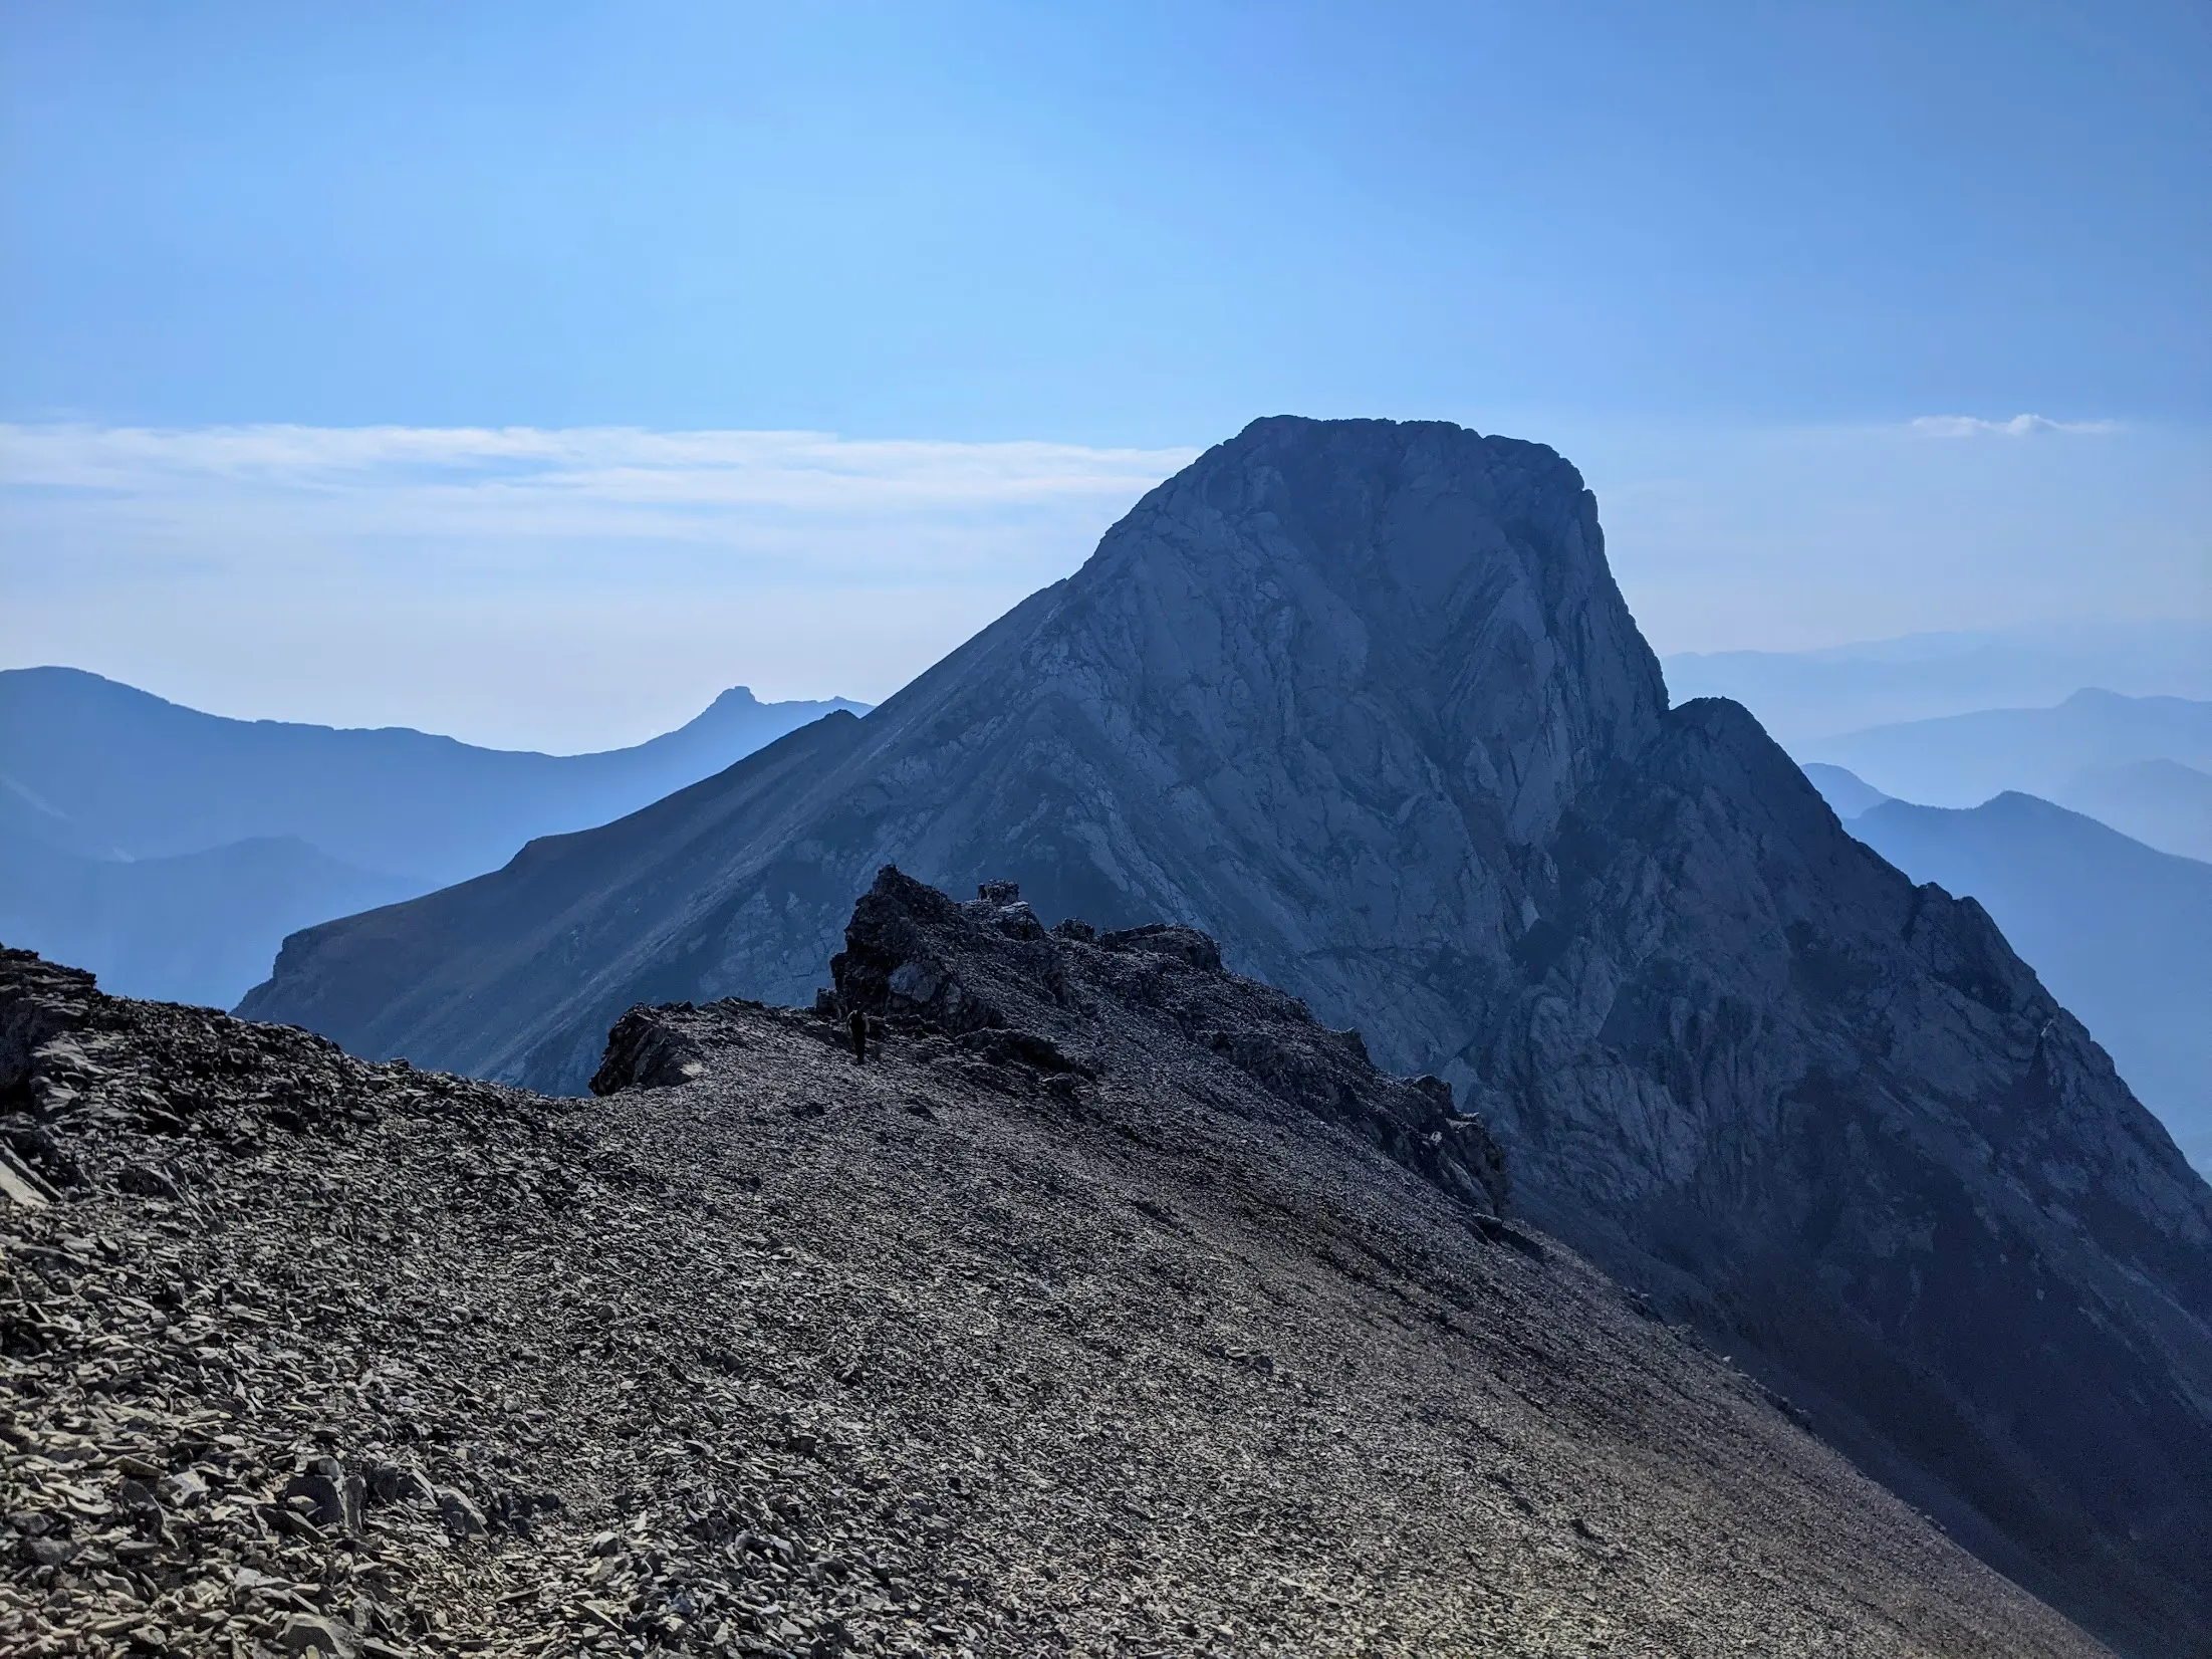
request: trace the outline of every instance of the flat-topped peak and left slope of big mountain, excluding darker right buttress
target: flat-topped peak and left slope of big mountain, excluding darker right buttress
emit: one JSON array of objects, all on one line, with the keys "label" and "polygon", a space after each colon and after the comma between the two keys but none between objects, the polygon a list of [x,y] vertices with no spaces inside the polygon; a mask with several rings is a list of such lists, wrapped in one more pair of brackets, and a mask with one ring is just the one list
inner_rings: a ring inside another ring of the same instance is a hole
[{"label": "flat-topped peak and left slope of big mountain, excluding darker right buttress", "polygon": [[1261,420],[867,721],[299,933],[241,1011],[577,1088],[630,1002],[803,1000],[898,863],[1102,927],[1179,916],[1411,1071],[1484,1029],[1469,969],[1663,710],[1551,449]]}]

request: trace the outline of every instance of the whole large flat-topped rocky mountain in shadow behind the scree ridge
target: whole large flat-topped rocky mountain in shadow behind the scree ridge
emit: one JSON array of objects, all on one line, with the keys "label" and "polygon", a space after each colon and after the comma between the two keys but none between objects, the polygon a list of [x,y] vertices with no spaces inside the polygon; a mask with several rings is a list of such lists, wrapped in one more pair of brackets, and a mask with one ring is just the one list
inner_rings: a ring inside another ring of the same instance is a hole
[{"label": "whole large flat-topped rocky mountain in shadow behind the scree ridge", "polygon": [[630,1002],[805,1000],[883,863],[1219,938],[1989,1559],[2212,1650],[2212,1192],[1975,905],[1668,710],[1548,449],[1256,422],[869,719],[294,936],[246,1011],[577,1088]]}]

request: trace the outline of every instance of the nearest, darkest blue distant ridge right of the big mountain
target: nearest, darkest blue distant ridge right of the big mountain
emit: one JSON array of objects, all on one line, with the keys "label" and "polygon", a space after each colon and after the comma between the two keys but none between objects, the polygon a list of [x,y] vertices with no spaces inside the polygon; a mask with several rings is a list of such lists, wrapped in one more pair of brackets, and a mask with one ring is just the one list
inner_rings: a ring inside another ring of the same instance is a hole
[{"label": "nearest, darkest blue distant ridge right of the big mountain", "polygon": [[2121,1077],[2212,1175],[2212,863],[2004,792],[1978,807],[1885,799],[1834,765],[1805,774],[1845,827],[1913,880],[1975,898]]}]

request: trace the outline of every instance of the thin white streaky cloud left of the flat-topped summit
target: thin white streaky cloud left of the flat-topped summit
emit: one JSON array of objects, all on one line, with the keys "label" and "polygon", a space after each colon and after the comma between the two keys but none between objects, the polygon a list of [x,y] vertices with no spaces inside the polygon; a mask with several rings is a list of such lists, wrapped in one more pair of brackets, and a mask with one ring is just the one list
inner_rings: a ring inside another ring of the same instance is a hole
[{"label": "thin white streaky cloud left of the flat-topped summit", "polygon": [[[18,538],[139,575],[166,555],[294,575],[352,549],[449,573],[553,560],[630,588],[739,573],[1035,582],[1190,453],[628,427],[0,427],[0,513]],[[619,562],[602,557],[615,546]]]}]

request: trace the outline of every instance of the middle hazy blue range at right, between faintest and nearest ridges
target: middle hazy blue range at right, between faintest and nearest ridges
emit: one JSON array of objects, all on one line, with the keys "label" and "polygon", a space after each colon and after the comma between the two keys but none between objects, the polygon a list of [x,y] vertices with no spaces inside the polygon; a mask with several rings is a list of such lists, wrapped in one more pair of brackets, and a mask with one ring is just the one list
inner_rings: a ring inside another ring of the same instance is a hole
[{"label": "middle hazy blue range at right, between faintest and nearest ridges", "polygon": [[2212,858],[2212,701],[2079,690],[2055,708],[1876,726],[1798,754],[1900,801],[1973,807],[2017,790],[2161,852]]}]

